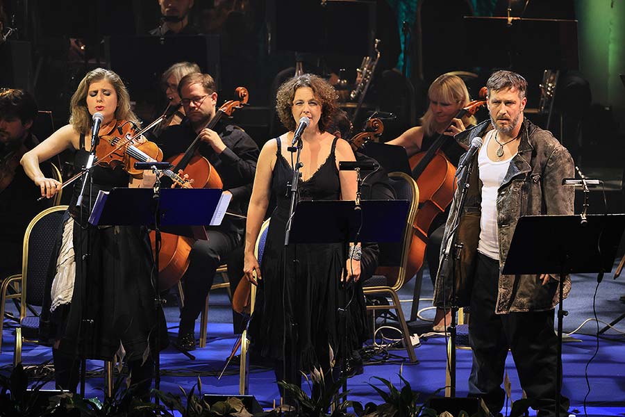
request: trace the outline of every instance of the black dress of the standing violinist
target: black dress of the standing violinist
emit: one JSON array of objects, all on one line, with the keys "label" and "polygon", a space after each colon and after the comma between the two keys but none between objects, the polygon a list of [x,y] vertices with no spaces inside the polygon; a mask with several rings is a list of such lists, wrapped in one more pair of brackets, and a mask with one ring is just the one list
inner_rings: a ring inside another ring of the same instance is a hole
[{"label": "black dress of the standing violinist", "polygon": [[[81,135],[81,149],[74,156],[74,167],[85,166],[88,157]],[[44,293],[40,338],[50,344],[60,340],[58,348],[67,354],[85,354],[88,359],[103,360],[111,359],[121,343],[126,360],[141,359],[148,338],[153,342],[156,336],[157,322],[163,335],[161,347],[167,334],[163,311],[160,310],[158,320],[154,311],[155,293],[150,279],[154,263],[149,236],[145,227],[94,227],[88,223],[99,190],[128,187],[129,178],[122,167],[97,165],[92,172],[92,185],[85,188],[81,207],[76,207],[81,190],[81,181],[76,181],[72,202],[65,213],[67,221],[74,222],[76,277],[72,301],[50,312],[51,284],[58,255],[53,256]],[[61,239],[62,233],[55,254]],[[88,332],[81,328],[85,319],[93,320]]]}]

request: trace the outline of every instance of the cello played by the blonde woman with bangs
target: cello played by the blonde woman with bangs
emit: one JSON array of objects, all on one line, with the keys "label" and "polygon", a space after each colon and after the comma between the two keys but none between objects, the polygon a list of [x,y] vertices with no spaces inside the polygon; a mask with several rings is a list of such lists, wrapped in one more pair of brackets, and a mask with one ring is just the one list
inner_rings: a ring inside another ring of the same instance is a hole
[{"label": "cello played by the blonde woman with bangs", "polygon": [[[485,94],[486,88],[482,88],[480,96],[485,98]],[[486,100],[471,101],[460,109],[456,118],[474,115],[478,108],[485,104]],[[449,140],[449,137],[440,133],[427,151],[419,152],[408,159],[412,178],[417,181],[419,187],[419,211],[412,224],[413,236],[410,242],[406,277],[412,277],[423,266],[428,230],[436,216],[447,210],[456,190],[456,181],[454,181],[456,167],[440,150],[446,140]],[[392,285],[392,279],[390,282]]]}]

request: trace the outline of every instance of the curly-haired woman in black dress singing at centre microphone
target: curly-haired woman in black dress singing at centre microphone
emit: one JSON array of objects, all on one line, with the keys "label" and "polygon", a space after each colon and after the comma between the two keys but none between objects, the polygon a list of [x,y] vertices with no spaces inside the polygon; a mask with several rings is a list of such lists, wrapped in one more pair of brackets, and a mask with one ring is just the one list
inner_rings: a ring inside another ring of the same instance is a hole
[{"label": "curly-haired woman in black dress singing at centre microphone", "polygon": [[[354,156],[346,141],[328,131],[337,108],[331,85],[311,74],[295,76],[281,86],[276,101],[278,117],[289,131],[269,140],[260,152],[247,213],[244,274],[258,286],[249,336],[252,350],[274,361],[277,381],[299,386],[300,371],[317,369],[330,376],[333,352],[339,352],[344,340],[344,352],[362,343],[364,311],[351,317],[345,337],[339,321],[342,284],[360,277],[360,247],[351,246],[349,251],[356,255],[348,256],[341,243],[284,245],[290,211],[287,183],[292,181],[295,161],[287,148],[297,122],[302,117],[309,120],[301,136],[299,201],[353,200],[356,174],[339,171],[339,161],[354,161]],[[276,208],[259,265],[253,247],[271,197]],[[294,405],[290,398],[285,400]]]}]

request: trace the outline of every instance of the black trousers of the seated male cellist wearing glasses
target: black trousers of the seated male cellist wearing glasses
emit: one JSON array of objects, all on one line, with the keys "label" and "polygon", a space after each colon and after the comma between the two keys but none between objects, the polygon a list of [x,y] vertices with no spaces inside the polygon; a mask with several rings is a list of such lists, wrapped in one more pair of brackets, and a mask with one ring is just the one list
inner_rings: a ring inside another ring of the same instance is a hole
[{"label": "black trousers of the seated male cellist wearing glasses", "polygon": [[241,241],[238,234],[211,230],[208,232],[208,240],[197,240],[194,243],[189,254],[189,268],[183,276],[185,306],[180,313],[181,327],[185,325],[193,328],[215,280],[215,271],[241,245]]}]

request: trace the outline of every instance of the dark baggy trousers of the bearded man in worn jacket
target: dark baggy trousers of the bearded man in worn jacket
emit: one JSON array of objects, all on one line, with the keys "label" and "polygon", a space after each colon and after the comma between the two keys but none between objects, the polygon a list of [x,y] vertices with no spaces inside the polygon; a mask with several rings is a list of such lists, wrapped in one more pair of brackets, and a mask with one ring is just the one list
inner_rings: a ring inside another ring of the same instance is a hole
[{"label": "dark baggy trousers of the bearded man in worn jacket", "polygon": [[[527,398],[534,401],[538,416],[568,416],[569,400],[561,398],[556,414],[556,361],[558,337],[553,332],[553,309],[526,313],[496,314],[499,261],[478,254],[471,296],[469,343],[473,366],[469,396],[483,398],[492,414],[503,408],[501,388],[508,348]],[[560,381],[562,374],[558,375]]]}]

